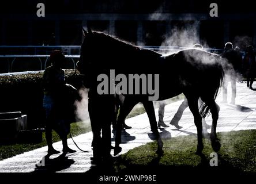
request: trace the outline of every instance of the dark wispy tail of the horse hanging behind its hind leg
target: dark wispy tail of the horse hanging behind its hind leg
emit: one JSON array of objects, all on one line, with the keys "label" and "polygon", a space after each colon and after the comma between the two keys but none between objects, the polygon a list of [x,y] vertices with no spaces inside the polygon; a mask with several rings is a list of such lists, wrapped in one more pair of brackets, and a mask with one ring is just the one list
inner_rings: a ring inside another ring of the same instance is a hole
[{"label": "dark wispy tail of the horse hanging behind its hind leg", "polygon": [[[208,73],[210,79],[207,81],[209,85],[206,85],[207,90],[209,94],[213,94],[214,100],[216,99],[217,95],[219,94],[219,90],[221,86],[223,85],[223,80],[224,80],[224,68],[223,68],[223,63],[220,59],[220,57],[217,56],[217,62],[212,68],[212,70],[209,71]],[[208,116],[210,112],[210,107],[207,104],[202,104],[201,105],[201,110],[200,110],[200,115],[201,117],[205,118]]]}]

